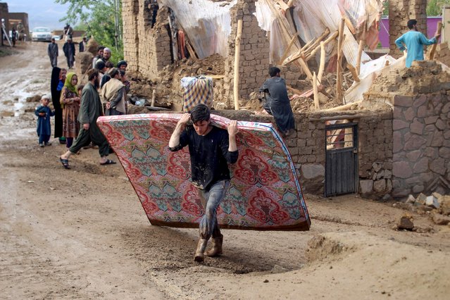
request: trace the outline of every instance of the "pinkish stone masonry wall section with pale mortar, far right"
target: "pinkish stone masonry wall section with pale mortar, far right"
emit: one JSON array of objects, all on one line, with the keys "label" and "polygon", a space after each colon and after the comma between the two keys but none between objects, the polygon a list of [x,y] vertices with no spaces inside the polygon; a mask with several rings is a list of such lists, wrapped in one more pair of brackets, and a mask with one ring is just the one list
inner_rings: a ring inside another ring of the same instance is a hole
[{"label": "pinkish stone masonry wall section with pale mortar, far right", "polygon": [[394,99],[394,197],[450,192],[450,96]]}]

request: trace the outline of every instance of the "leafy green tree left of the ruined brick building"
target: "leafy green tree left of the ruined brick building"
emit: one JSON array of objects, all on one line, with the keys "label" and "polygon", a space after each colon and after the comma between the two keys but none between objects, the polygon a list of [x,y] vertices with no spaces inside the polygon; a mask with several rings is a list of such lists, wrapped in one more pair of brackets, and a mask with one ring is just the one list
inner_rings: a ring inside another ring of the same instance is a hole
[{"label": "leafy green tree left of the ruined brick building", "polygon": [[62,21],[77,24],[75,28],[86,30],[99,44],[111,48],[111,61],[123,59],[122,1],[121,0],[54,0],[69,4]]}]

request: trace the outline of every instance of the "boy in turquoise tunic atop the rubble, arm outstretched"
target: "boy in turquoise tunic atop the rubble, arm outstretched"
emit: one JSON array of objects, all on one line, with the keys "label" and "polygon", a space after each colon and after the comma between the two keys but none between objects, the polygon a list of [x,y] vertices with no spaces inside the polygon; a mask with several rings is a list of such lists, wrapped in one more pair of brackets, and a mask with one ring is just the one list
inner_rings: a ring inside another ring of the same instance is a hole
[{"label": "boy in turquoise tunic atop the rubble, arm outstretched", "polygon": [[413,61],[423,61],[423,45],[436,44],[440,35],[427,39],[422,32],[417,30],[417,20],[408,20],[409,31],[396,39],[395,44],[400,51],[406,50],[406,68],[411,67]]}]

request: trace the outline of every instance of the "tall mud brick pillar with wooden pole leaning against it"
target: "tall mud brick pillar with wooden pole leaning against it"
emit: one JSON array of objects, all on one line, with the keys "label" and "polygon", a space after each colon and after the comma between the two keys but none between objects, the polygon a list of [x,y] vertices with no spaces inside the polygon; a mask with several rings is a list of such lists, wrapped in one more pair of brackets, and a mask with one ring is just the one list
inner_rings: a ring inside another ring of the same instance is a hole
[{"label": "tall mud brick pillar with wooden pole leaning against it", "polygon": [[254,0],[238,1],[231,8],[232,31],[228,39],[228,56],[225,58],[225,78],[220,94],[225,95],[227,108],[233,104],[233,78],[235,73],[235,39],[237,19],[242,19],[241,52],[239,61],[239,96],[248,98],[251,92],[257,92],[268,78],[269,41],[266,32],[258,26],[254,15],[256,11]]}]

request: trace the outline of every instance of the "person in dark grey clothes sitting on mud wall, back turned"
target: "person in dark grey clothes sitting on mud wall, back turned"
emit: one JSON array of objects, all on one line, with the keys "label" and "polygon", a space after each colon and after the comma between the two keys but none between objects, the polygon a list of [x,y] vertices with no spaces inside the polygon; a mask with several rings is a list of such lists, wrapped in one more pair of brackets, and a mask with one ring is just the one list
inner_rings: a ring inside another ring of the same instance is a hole
[{"label": "person in dark grey clothes sitting on mud wall, back turned", "polygon": [[270,67],[270,78],[265,80],[263,86],[259,88],[259,92],[265,93],[263,108],[273,115],[281,134],[287,136],[294,130],[295,121],[291,101],[287,96],[286,82],[280,77],[280,72],[279,68]]}]

